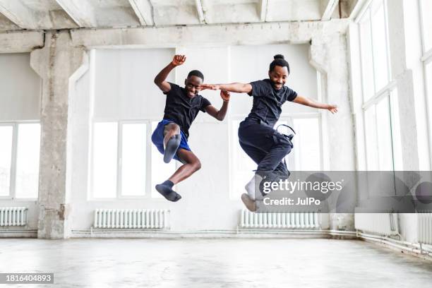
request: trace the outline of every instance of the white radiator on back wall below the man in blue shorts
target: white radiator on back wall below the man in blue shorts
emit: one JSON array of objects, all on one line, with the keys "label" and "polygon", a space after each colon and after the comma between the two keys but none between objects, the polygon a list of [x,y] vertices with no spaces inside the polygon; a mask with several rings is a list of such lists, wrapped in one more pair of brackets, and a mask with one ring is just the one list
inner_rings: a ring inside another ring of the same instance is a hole
[{"label": "white radiator on back wall below the man in blue shorts", "polygon": [[95,228],[169,229],[169,210],[97,209]]}]

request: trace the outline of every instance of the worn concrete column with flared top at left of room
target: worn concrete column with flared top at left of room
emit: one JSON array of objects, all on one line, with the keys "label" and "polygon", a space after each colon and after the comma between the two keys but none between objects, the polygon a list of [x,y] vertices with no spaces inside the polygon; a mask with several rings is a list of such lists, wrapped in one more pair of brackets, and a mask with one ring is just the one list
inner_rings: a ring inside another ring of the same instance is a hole
[{"label": "worn concrete column with flared top at left of room", "polygon": [[30,65],[42,78],[39,222],[37,237],[68,237],[71,205],[66,197],[66,135],[69,82],[83,64],[82,48],[71,45],[68,32],[47,33]]}]

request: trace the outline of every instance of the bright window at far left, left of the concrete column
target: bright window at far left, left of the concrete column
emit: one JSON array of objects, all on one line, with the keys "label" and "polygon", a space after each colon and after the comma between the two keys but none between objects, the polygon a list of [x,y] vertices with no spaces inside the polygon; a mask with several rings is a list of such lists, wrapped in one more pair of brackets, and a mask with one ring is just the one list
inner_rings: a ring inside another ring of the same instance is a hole
[{"label": "bright window at far left, left of the concrete column", "polygon": [[0,197],[37,198],[40,124],[0,124]]}]

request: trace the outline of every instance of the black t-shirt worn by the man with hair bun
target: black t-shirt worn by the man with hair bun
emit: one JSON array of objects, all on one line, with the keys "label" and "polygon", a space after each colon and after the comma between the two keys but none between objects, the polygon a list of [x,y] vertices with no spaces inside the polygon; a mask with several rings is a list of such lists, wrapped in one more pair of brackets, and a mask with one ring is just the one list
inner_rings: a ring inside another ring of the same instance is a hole
[{"label": "black t-shirt worn by the man with hair bun", "polygon": [[275,126],[282,112],[282,104],[286,101],[293,101],[297,93],[287,86],[280,90],[273,88],[270,79],[251,82],[252,91],[248,94],[253,96],[253,106],[247,119],[259,119],[261,123],[268,126]]}]

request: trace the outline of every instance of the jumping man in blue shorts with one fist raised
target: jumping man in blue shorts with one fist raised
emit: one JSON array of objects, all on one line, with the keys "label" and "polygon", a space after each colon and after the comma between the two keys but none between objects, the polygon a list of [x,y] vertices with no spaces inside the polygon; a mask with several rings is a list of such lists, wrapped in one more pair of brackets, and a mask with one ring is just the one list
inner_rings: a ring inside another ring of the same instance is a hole
[{"label": "jumping man in blue shorts with one fist raised", "polygon": [[172,62],[163,68],[155,78],[155,84],[164,92],[164,95],[167,95],[167,101],[165,102],[164,118],[152,133],[152,143],[164,155],[165,163],[170,162],[172,158],[183,163],[167,181],[156,185],[156,190],[164,198],[173,202],[181,199],[179,193],[172,190],[174,184],[188,178],[201,167],[200,160],[188,145],[189,127],[200,111],[207,112],[222,121],[227,114],[230,97],[229,92],[221,90],[220,96],[223,104],[221,109],[217,110],[210,104],[210,101],[198,95],[199,87],[204,81],[203,73],[198,70],[188,73],[188,78],[184,80],[184,88],[167,82],[165,79],[169,72],[176,66],[184,64],[184,61],[186,61],[186,56],[175,55]]}]

